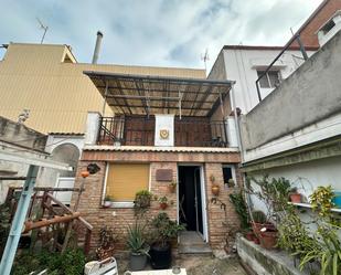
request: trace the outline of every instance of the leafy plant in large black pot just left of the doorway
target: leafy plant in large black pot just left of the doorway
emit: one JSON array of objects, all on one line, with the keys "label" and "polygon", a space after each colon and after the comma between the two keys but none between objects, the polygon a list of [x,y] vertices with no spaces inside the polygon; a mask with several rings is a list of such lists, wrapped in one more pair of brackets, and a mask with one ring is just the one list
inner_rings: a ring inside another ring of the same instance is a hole
[{"label": "leafy plant in large black pot just left of the doorway", "polygon": [[153,242],[149,251],[151,266],[156,269],[167,269],[172,262],[170,241],[185,228],[170,220],[164,212],[154,216],[151,225],[153,229]]}]

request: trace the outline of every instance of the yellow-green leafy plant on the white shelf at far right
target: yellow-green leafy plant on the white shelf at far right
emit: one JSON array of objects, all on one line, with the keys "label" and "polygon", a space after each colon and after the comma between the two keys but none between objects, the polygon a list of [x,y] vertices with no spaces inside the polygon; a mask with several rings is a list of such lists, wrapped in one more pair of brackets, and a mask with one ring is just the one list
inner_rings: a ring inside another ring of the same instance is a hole
[{"label": "yellow-green leafy plant on the white shelf at far right", "polygon": [[318,187],[312,194],[309,195],[312,211],[318,211],[320,216],[329,216],[333,207],[332,199],[334,193],[331,186]]}]

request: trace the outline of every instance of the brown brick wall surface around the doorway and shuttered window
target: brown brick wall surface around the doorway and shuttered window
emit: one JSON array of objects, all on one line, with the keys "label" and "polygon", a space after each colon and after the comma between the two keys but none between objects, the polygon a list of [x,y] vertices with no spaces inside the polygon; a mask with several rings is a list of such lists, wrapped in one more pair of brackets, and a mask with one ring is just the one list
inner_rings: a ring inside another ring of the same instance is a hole
[{"label": "brown brick wall surface around the doorway and shuttered window", "polygon": [[[98,152],[93,152],[93,156],[96,156]],[[116,152],[111,152],[116,154]],[[142,152],[140,152],[142,154]],[[227,155],[227,154],[226,154]],[[108,152],[103,156],[108,156]],[[88,156],[89,157],[89,156]],[[136,160],[140,160],[137,158]],[[98,233],[103,225],[109,225],[115,229],[115,232],[120,236],[120,241],[117,244],[118,248],[125,248],[125,239],[127,224],[132,224],[135,220],[132,209],[122,209],[122,208],[110,208],[105,209],[102,207],[102,194],[104,191],[104,180],[105,180],[105,170],[106,161],[99,160],[81,160],[77,168],[77,176],[75,180],[75,187],[79,187],[82,182],[81,171],[86,170],[86,167],[90,162],[96,162],[100,167],[100,171],[96,174],[90,174],[85,180],[85,191],[82,194],[81,203],[78,211],[82,213],[84,219],[86,219],[94,226],[94,234],[92,239],[92,248],[96,248],[99,244]],[[226,163],[226,162],[225,162]],[[200,165],[200,162],[198,162]],[[178,172],[178,162],[174,161],[153,161],[150,162],[150,183],[151,192],[158,197],[167,195],[170,201],[174,203],[169,205],[166,209],[166,212],[173,220],[177,219],[177,193],[170,193],[168,190],[168,182],[158,182],[156,180],[156,170],[157,169],[172,169],[173,179],[177,179]],[[220,204],[213,204],[211,202],[212,192],[211,192],[211,181],[209,177],[211,174],[215,176],[216,183],[221,186],[221,193],[219,199],[226,203],[226,213],[227,213],[227,224],[225,226],[225,212],[220,208]],[[204,165],[204,177],[205,177],[205,190],[206,190],[206,205],[207,205],[207,222],[209,222],[209,235],[210,244],[213,248],[222,248],[225,245],[225,237],[228,232],[228,228],[238,226],[238,219],[234,212],[232,204],[228,201],[228,193],[231,190],[224,189],[223,184],[223,171],[222,162],[207,162]],[[237,182],[241,183],[241,174],[237,171]],[[73,195],[72,203],[74,203],[77,194]],[[153,201],[151,203],[149,213],[146,215],[146,219],[158,214],[160,212],[159,203]]]}]

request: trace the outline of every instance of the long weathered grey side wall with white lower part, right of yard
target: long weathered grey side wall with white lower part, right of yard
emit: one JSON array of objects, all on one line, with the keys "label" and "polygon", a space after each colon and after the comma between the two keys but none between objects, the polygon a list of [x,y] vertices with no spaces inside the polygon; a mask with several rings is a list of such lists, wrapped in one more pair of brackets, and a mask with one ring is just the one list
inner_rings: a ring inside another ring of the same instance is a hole
[{"label": "long weathered grey side wall with white lower part, right of yard", "polygon": [[318,186],[341,190],[340,49],[341,31],[239,120],[243,171],[289,179],[303,202]]}]

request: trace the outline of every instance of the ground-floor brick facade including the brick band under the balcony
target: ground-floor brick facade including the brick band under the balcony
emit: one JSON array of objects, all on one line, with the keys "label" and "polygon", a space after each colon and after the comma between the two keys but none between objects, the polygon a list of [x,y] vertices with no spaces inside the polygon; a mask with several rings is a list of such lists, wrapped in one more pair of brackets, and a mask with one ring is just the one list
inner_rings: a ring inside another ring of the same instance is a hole
[{"label": "ground-floor brick facade including the brick band under the balcony", "polygon": [[[203,165],[204,169],[204,182],[206,190],[206,205],[207,205],[207,226],[209,226],[209,241],[212,248],[223,248],[225,246],[225,239],[228,230],[238,226],[238,218],[233,209],[233,205],[228,201],[228,194],[232,190],[228,190],[223,184],[223,170],[222,163],[237,163],[239,161],[239,155],[236,152],[224,154],[224,158],[219,157],[220,154],[205,154],[212,156],[205,156],[204,159],[210,160],[202,162],[202,154],[178,154],[177,161],[172,161],[172,158],[167,159],[166,152],[159,152],[159,161],[156,161],[156,152],[103,152],[103,151],[85,151],[82,160],[78,163],[77,176],[75,187],[79,187],[82,180],[81,172],[86,170],[86,167],[90,162],[95,162],[100,167],[100,171],[96,174],[90,174],[85,179],[85,191],[82,194],[78,211],[83,218],[86,219],[94,226],[94,234],[92,239],[92,248],[98,246],[98,233],[103,225],[109,225],[115,229],[115,232],[120,236],[120,241],[117,244],[118,248],[125,248],[124,235],[127,230],[127,223],[132,224],[135,220],[134,209],[131,208],[110,208],[105,209],[102,207],[102,195],[104,192],[105,172],[107,161],[139,161],[150,163],[150,191],[158,195],[167,195],[169,200],[173,201],[172,205],[169,205],[164,211],[173,220],[177,219],[177,193],[170,193],[168,190],[168,182],[158,182],[156,180],[157,169],[171,169],[173,171],[173,179],[178,178],[178,165],[181,162],[196,162]],[[172,154],[171,154],[172,155]],[[148,158],[149,156],[149,158]],[[118,157],[118,158],[117,158]],[[174,158],[174,156],[173,156]],[[100,160],[102,159],[102,160]],[[182,161],[181,161],[181,160]],[[216,162],[219,161],[219,162]],[[223,203],[226,204],[226,218],[225,212],[221,209],[220,203],[213,204],[211,199],[213,198],[211,192],[210,176],[214,174],[215,182],[221,187],[221,193],[217,197]],[[238,169],[236,169],[237,183],[242,184],[242,178]],[[128,176],[127,176],[128,179]],[[73,195],[73,202],[77,194]],[[153,201],[150,210],[146,215],[146,219],[158,214],[160,212],[159,203]]]}]

